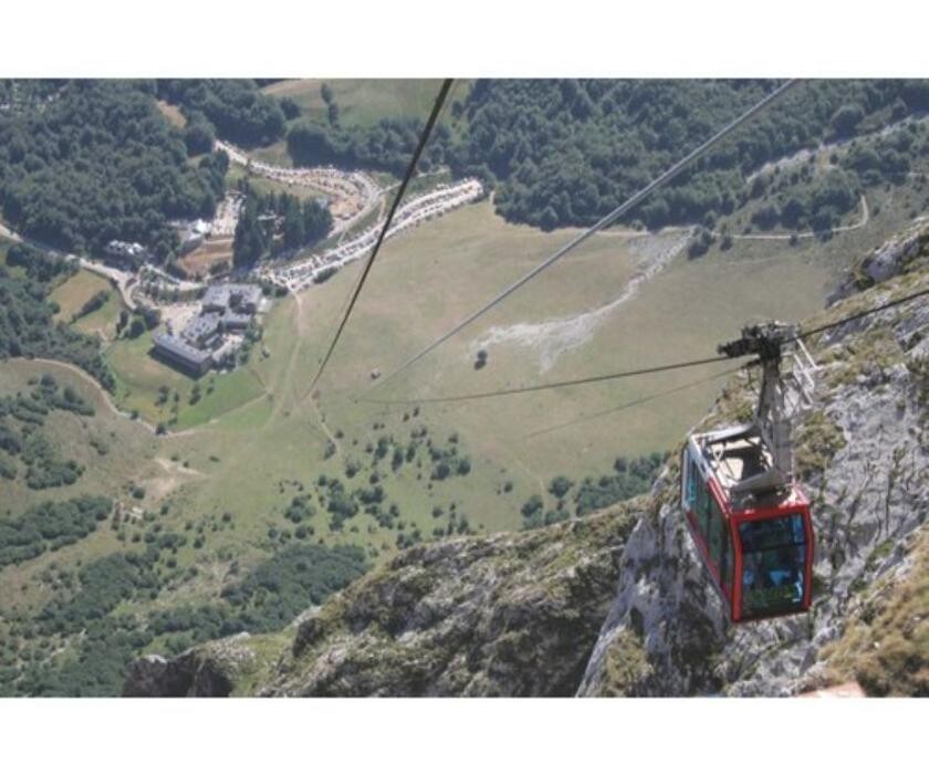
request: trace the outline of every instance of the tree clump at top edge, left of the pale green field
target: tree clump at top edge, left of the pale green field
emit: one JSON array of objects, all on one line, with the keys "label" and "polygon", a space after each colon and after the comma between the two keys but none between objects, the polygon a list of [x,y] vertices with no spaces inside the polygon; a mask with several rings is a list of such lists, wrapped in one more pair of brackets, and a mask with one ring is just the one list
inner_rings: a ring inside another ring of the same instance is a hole
[{"label": "tree clump at top edge, left of the pale green field", "polygon": [[[270,145],[284,136],[283,106],[274,97],[262,94],[252,80],[160,80],[157,93],[163,100],[180,106],[188,129],[203,127],[209,132],[207,149],[212,145],[213,134],[247,147]],[[293,105],[288,109],[292,112]],[[195,147],[202,148],[203,142],[195,143]]]}]

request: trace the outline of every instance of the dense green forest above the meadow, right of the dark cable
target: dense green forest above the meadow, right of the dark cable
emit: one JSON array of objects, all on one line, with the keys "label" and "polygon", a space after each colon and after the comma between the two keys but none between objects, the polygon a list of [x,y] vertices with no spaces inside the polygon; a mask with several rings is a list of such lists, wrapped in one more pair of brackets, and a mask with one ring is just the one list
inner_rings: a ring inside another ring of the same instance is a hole
[{"label": "dense green forest above the meadow, right of the dark cable", "polygon": [[[468,130],[448,159],[459,175],[495,181],[497,207],[509,220],[545,229],[586,226],[772,87],[759,81],[478,81],[456,107]],[[765,161],[927,108],[929,82],[804,83],[631,219],[650,228],[711,224],[745,201],[745,177]],[[886,172],[898,161],[869,159],[871,169]],[[846,211],[856,185],[854,176],[831,181],[818,197],[798,201],[802,208],[795,202],[787,220],[820,216],[821,226],[831,224],[821,213]]]}]

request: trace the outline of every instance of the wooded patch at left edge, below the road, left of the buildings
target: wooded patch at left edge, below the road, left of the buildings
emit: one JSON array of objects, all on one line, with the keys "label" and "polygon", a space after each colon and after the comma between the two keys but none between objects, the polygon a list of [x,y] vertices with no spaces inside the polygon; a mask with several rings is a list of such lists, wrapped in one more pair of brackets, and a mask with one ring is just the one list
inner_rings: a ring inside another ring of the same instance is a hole
[{"label": "wooded patch at left edge, below the road, left of the buildings", "polygon": [[[25,255],[33,265],[31,258],[42,253],[21,245],[11,247],[8,265],[14,265],[12,255]],[[48,264],[36,258],[34,265]],[[45,272],[44,269],[41,271]],[[52,316],[58,312],[58,305],[48,300],[48,281],[13,276],[0,265],[0,360],[45,357],[73,363],[112,391],[116,383],[101,355],[100,342],[63,323],[55,324]]]}]

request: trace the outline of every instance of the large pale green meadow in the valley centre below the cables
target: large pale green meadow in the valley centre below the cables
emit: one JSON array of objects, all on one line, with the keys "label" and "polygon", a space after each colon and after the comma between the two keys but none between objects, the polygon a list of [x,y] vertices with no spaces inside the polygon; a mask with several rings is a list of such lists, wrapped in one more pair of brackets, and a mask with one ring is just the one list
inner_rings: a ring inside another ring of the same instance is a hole
[{"label": "large pale green meadow in the valley centre below the cables", "polygon": [[[820,308],[832,278],[847,261],[905,219],[905,196],[897,191],[874,200],[871,209],[879,212],[865,227],[828,242],[737,240],[726,251],[714,244],[699,260],[688,260],[680,250],[664,271],[614,307],[609,304],[629,281],[680,248],[683,234],[603,234],[375,396],[440,396],[712,355],[745,320],[801,318]],[[430,460],[396,473],[380,463],[385,502],[397,504],[405,527],[385,530],[361,517],[351,525],[356,533],[335,538],[393,551],[399,531],[409,534],[418,527],[429,536],[439,525],[447,529],[431,513],[440,508],[447,515],[452,503],[471,529],[516,527],[529,496],[540,494],[553,504],[546,489],[554,475],[574,481],[599,477],[620,454],[669,448],[709,405],[719,385],[712,377],[726,367],[493,401],[421,405],[416,417],[415,406],[353,398],[374,385],[373,369],[399,363],[571,236],[570,230],[544,234],[508,224],[484,202],[392,240],[321,384],[319,405],[307,385],[358,264],[299,299],[275,304],[262,341],[268,356],[257,349],[248,368],[201,379],[205,397],[197,405],[190,404],[194,381],[148,357],[146,336],[118,342],[108,353],[118,399],[144,418],[167,421],[177,394],[175,429],[189,431],[168,438],[166,446],[206,473],[185,508],[249,513],[248,529],[255,537],[280,526],[275,520],[294,494],[292,484],[282,489],[282,481],[309,487],[320,474],[347,481],[346,466],[357,463],[351,483],[367,484],[374,468],[368,443],[383,436],[408,443],[410,432],[424,426],[442,447],[458,435],[470,473],[436,481],[429,490]],[[554,344],[546,328],[537,327],[551,321],[566,321],[547,328],[559,339]],[[536,326],[526,333],[531,343],[484,344],[494,328],[512,334],[520,324]],[[476,370],[481,346],[489,352],[488,366]],[[163,386],[169,397],[159,405]],[[664,399],[635,405],[678,388]],[[334,453],[327,452],[330,444]],[[317,521],[317,534],[325,537],[326,519]]]}]

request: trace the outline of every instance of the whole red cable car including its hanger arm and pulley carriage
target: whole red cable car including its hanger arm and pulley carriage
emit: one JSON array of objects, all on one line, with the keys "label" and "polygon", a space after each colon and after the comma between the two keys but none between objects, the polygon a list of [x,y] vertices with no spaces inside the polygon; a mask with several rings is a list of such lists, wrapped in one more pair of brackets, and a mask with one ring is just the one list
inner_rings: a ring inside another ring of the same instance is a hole
[{"label": "whole red cable car including its hanger arm and pulley carriage", "polygon": [[[794,368],[781,374],[790,347]],[[720,347],[758,355],[762,385],[752,421],[691,435],[681,453],[681,508],[733,623],[803,613],[813,579],[810,501],[793,474],[791,416],[808,408],[815,370],[793,326],[763,323]]]}]

